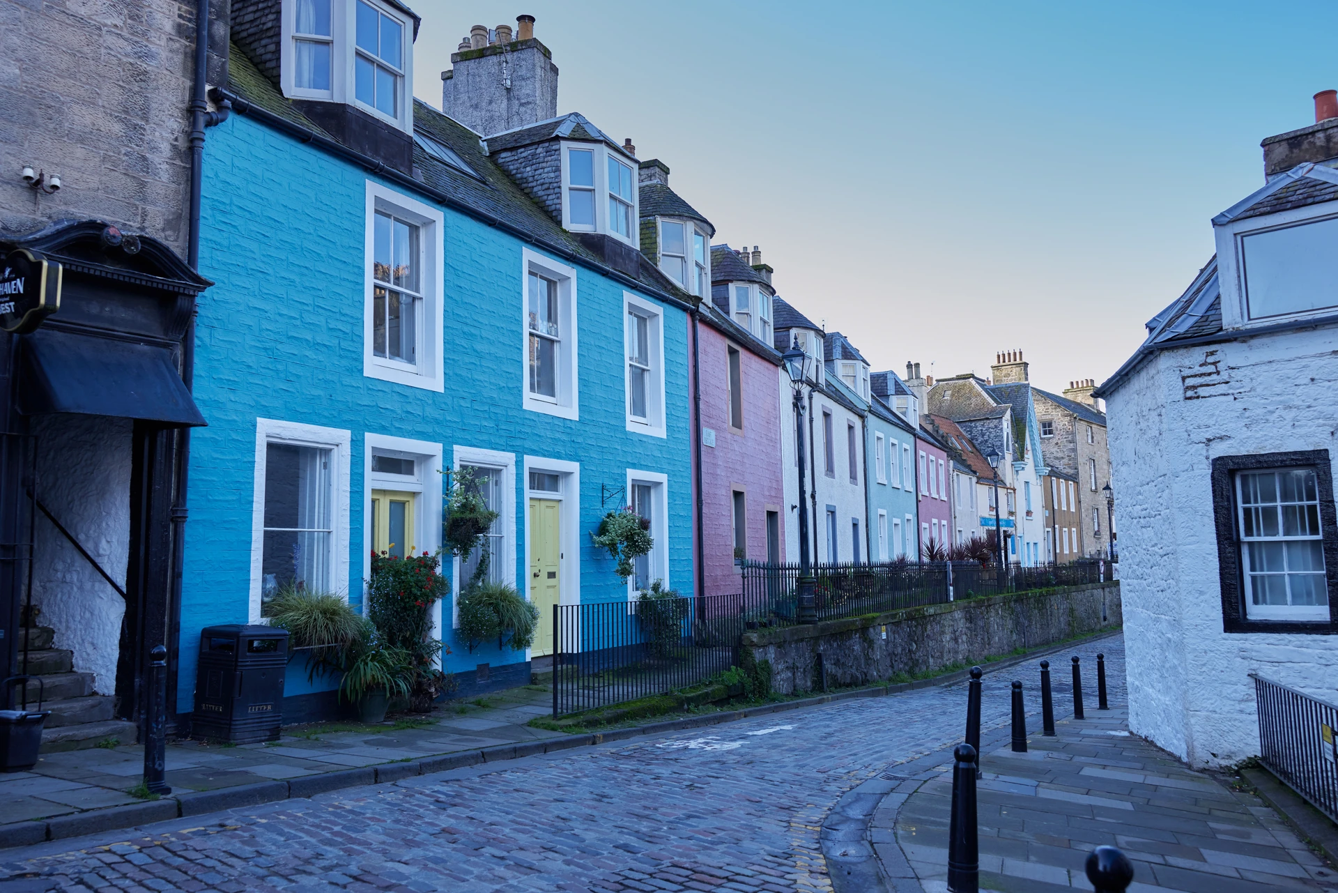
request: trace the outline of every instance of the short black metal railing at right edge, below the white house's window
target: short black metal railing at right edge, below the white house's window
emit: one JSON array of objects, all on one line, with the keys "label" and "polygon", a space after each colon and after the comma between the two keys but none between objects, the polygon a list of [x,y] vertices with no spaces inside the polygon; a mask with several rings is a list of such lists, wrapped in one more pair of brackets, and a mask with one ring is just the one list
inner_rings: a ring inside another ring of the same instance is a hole
[{"label": "short black metal railing at right edge, below the white house's window", "polygon": [[1259,762],[1338,822],[1338,706],[1255,673]]}]

